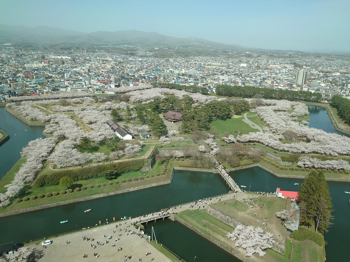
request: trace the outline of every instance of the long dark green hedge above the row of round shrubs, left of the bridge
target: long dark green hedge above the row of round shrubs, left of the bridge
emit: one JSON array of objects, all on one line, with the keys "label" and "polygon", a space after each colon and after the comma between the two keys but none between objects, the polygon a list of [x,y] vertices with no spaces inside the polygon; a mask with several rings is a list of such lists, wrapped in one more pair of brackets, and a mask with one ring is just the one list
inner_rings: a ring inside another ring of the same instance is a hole
[{"label": "long dark green hedge above the row of round shrubs, left of the bridge", "polygon": [[58,172],[52,172],[46,176],[41,175],[34,181],[34,184],[39,186],[43,185],[42,180],[44,180],[46,184],[58,185],[59,180],[64,176],[70,177],[71,179],[73,179],[73,181],[78,181],[78,180],[90,179],[92,177],[95,177],[95,178],[102,177],[104,176],[103,174],[109,170],[113,170],[116,173],[121,174],[121,173],[128,172],[130,170],[140,170],[143,166],[144,166],[143,160],[135,160],[135,161],[118,162],[118,163],[111,163],[107,165],[97,165],[97,166],[84,167],[84,168],[71,169],[71,170],[62,170]]}]

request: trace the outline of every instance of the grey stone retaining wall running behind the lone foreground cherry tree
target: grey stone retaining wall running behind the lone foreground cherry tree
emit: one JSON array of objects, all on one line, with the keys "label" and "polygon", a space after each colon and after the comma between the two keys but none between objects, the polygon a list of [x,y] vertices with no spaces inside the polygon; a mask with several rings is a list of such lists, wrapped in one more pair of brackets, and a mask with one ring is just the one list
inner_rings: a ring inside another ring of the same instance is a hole
[{"label": "grey stone retaining wall running behind the lone foreground cherry tree", "polygon": [[[214,206],[212,206],[212,205],[208,205],[206,208],[206,211],[211,216],[215,217],[216,219],[218,219],[220,221],[223,221],[225,224],[232,226],[233,228],[236,228],[237,225],[249,226],[244,221],[241,221],[240,219],[238,219],[236,217],[232,217],[228,213],[225,213],[222,210],[214,208]],[[286,253],[286,241],[287,241],[287,234],[285,234],[285,241],[284,242],[280,241],[278,239],[274,239],[274,244],[273,244],[272,248],[274,250],[276,250],[277,252],[285,254]]]}]

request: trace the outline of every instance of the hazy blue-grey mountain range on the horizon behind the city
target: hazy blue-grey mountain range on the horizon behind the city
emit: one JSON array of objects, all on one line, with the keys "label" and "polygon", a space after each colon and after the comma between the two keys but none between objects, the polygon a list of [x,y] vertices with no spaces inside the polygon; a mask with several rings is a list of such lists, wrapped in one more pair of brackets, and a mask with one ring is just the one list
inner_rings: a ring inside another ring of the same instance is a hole
[{"label": "hazy blue-grey mountain range on the horizon behind the city", "polygon": [[[12,43],[18,46],[61,45],[133,45],[141,48],[154,47],[191,47],[196,49],[243,50],[238,45],[211,42],[205,39],[165,36],[157,32],[137,30],[97,31],[84,33],[46,26],[25,27],[0,24],[0,43]],[[244,48],[248,50],[248,48]]]}]

